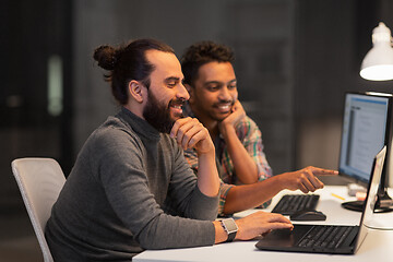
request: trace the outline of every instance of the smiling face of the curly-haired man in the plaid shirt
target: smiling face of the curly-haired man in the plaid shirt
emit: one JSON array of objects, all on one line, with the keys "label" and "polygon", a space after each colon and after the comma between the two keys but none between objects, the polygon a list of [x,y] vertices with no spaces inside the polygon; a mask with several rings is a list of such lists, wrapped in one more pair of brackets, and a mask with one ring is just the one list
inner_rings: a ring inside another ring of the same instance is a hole
[{"label": "smiling face of the curly-haired man in the plaid shirt", "polygon": [[209,62],[200,67],[189,88],[192,111],[203,121],[222,121],[237,100],[237,82],[230,62]]}]

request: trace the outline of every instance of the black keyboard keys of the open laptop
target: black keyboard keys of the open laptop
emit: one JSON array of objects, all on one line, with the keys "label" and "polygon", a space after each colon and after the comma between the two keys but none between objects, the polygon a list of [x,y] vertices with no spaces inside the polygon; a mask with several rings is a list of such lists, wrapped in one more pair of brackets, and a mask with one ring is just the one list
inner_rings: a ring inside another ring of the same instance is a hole
[{"label": "black keyboard keys of the open laptop", "polygon": [[311,248],[340,248],[356,226],[313,226],[298,242],[298,247]]}]

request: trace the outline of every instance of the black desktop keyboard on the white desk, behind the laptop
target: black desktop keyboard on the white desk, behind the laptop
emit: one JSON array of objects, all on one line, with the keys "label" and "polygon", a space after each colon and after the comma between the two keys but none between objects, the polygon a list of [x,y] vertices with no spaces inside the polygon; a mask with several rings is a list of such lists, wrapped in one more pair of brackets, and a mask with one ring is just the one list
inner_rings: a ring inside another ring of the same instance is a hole
[{"label": "black desktop keyboard on the white desk, behind the laptop", "polygon": [[291,215],[301,210],[315,210],[319,194],[285,194],[272,210],[273,213]]}]

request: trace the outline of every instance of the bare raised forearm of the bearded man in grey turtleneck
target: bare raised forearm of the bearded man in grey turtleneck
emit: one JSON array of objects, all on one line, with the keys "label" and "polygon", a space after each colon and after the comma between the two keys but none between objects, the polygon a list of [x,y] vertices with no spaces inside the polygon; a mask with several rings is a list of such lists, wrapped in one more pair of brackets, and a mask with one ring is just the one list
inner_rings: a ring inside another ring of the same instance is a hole
[{"label": "bare raised forearm of the bearded man in grey turtleneck", "polygon": [[216,196],[219,191],[219,178],[215,164],[215,153],[198,156],[198,187],[207,196]]}]

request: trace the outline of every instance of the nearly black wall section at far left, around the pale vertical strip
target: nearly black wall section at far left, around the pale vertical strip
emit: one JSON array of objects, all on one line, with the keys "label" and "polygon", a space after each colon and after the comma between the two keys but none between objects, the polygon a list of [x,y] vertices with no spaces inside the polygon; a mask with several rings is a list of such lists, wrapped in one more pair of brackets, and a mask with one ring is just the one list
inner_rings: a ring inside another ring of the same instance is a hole
[{"label": "nearly black wall section at far left, around the pale vertical strip", "polygon": [[[72,165],[71,27],[70,1],[1,2],[0,206],[19,201],[12,159],[45,156],[58,159],[66,170]],[[63,109],[58,115],[48,110],[52,56],[62,58]]]}]

